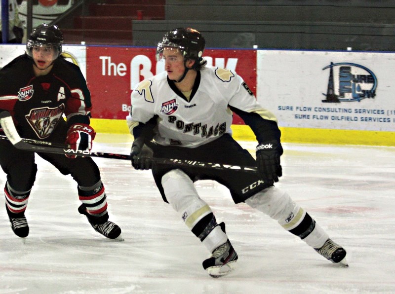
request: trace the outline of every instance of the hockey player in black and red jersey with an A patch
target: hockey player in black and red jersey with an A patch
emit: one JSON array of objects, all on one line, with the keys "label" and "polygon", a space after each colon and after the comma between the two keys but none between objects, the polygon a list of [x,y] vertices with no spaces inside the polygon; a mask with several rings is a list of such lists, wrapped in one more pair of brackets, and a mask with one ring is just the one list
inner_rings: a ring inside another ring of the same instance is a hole
[{"label": "hockey player in black and red jersey with an A patch", "polygon": [[[11,113],[23,138],[90,150],[95,137],[89,126],[90,93],[79,67],[61,55],[62,43],[57,26],[42,24],[32,31],[26,53],[0,70],[0,111]],[[96,163],[90,157],[37,154],[77,182],[82,202],[78,211],[92,227],[107,238],[122,240],[119,226],[108,220],[106,192]],[[35,153],[1,140],[0,164],[7,175],[5,209],[12,230],[24,238],[29,234],[25,210],[37,173]]]}]

